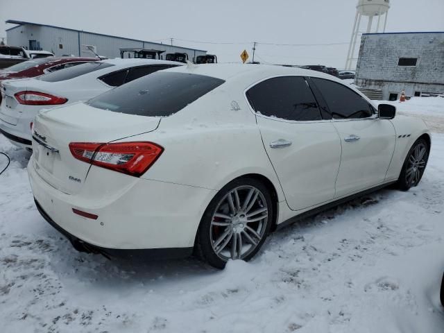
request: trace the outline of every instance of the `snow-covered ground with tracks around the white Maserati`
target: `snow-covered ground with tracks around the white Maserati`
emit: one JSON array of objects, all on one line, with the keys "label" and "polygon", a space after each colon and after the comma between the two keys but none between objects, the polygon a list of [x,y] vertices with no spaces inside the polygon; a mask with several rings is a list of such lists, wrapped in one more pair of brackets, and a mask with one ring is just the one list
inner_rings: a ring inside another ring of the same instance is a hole
[{"label": "snow-covered ground with tracks around the white Maserati", "polygon": [[[444,99],[396,103],[436,117]],[[1,332],[444,331],[444,134],[422,182],[275,232],[251,262],[109,261],[77,253],[35,209],[28,153],[0,176]],[[6,164],[0,155],[0,170]]]}]

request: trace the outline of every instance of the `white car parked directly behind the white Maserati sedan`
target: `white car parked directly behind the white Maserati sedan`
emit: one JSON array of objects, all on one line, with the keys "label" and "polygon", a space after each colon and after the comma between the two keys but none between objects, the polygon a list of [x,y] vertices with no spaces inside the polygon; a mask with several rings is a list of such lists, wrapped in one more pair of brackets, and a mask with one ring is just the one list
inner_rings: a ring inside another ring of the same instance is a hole
[{"label": "white car parked directly behind the white Maserati sedan", "polygon": [[108,90],[181,62],[150,59],[112,59],[1,85],[0,133],[12,144],[31,148],[31,123],[42,109],[86,101]]}]

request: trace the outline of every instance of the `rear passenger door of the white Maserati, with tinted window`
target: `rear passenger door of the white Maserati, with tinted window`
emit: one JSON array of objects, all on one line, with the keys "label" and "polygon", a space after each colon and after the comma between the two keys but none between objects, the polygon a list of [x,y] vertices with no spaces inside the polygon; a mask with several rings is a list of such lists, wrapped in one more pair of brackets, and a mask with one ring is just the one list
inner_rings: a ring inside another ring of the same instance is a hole
[{"label": "rear passenger door of the white Maserati, with tinted window", "polygon": [[341,142],[302,76],[262,80],[246,91],[291,210],[334,198]]}]

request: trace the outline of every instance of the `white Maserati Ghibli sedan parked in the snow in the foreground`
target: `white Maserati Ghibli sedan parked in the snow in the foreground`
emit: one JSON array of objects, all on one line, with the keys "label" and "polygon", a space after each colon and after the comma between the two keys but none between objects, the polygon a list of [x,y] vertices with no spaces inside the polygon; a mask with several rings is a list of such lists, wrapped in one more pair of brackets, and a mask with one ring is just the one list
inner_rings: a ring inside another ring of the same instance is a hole
[{"label": "white Maserati Ghibli sedan parked in the snow in the foreground", "polygon": [[188,65],[40,112],[28,173],[38,210],[78,250],[194,250],[223,268],[302,216],[418,185],[430,144],[422,120],[327,74]]}]

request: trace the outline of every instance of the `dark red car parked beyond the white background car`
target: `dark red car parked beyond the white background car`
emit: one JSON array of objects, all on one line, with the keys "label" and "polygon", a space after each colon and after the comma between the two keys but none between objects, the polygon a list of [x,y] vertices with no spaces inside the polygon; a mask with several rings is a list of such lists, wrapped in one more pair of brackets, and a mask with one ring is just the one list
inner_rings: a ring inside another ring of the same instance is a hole
[{"label": "dark red car parked beyond the white background car", "polygon": [[[3,80],[12,80],[16,78],[34,78],[43,74],[58,71],[59,69],[68,68],[100,60],[99,58],[80,58],[80,57],[46,57],[36,58],[19,62],[6,69],[0,70],[0,83]],[[0,94],[1,102],[1,94]]]}]

